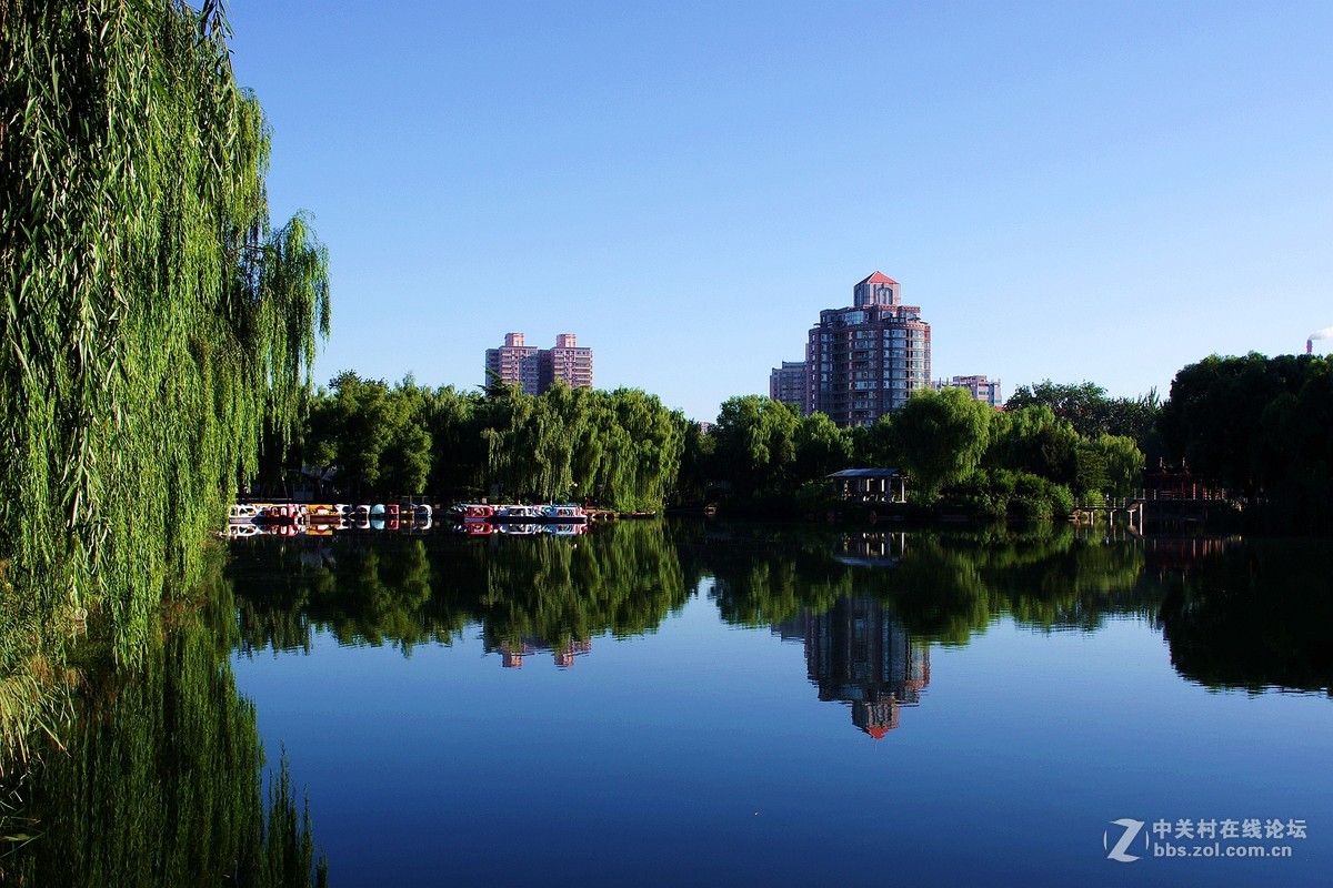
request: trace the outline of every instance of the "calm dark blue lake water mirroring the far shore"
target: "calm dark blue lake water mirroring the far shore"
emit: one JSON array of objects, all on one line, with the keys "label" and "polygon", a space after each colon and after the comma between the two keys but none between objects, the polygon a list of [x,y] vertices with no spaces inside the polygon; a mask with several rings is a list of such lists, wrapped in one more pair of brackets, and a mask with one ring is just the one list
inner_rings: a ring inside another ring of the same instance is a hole
[{"label": "calm dark blue lake water mirroring the far shore", "polygon": [[[196,644],[220,706],[252,702],[269,766],[285,750],[329,884],[1333,872],[1326,541],[628,522],[231,555]],[[173,696],[145,731],[192,724]],[[85,771],[39,813],[97,795]],[[163,804],[141,829],[173,823]],[[120,827],[72,829],[35,844],[64,859]],[[117,884],[153,864],[127,865]]]}]

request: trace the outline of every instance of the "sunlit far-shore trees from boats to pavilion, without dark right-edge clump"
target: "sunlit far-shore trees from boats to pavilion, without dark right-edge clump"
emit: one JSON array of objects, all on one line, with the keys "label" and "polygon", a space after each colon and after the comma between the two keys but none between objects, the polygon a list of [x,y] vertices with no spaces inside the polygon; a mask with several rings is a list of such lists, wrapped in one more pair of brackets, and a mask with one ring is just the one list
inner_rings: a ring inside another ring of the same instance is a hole
[{"label": "sunlit far-shore trees from boats to pavilion, without dark right-edge clump", "polygon": [[[1088,383],[1085,393],[1105,398]],[[557,385],[532,397],[513,386],[487,391],[393,386],[347,371],[316,393],[293,457],[327,479],[323,495],[425,493],[592,499],[613,509],[700,502],[718,491],[741,502],[788,503],[824,490],[849,466],[896,466],[913,497],[949,493],[986,515],[1014,503],[1046,517],[1089,493],[1126,495],[1142,454],[1114,423],[1086,434],[1045,402],[997,413],[961,389],[922,391],[869,429],[840,429],[824,414],[798,415],[761,395],[730,398],[704,434],[637,390]],[[1052,406],[1054,405],[1054,406]],[[1140,429],[1142,423],[1134,426]]]}]

